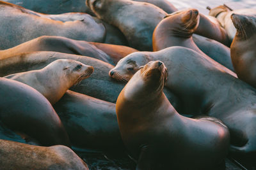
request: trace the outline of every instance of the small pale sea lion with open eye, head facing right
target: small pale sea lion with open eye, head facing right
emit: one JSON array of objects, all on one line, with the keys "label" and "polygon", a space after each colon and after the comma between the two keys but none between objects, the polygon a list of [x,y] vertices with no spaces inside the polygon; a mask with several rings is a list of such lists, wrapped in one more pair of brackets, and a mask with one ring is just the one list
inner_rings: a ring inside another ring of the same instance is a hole
[{"label": "small pale sea lion with open eye, head facing right", "polygon": [[88,78],[92,73],[92,66],[76,60],[60,59],[51,62],[43,69],[10,74],[4,78],[20,81],[33,87],[51,104],[54,104],[70,87]]}]

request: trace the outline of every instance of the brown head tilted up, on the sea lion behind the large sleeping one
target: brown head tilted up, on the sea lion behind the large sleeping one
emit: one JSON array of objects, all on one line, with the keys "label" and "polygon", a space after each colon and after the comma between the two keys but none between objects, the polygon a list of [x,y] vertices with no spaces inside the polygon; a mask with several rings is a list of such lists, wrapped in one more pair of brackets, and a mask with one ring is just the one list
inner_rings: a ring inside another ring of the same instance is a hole
[{"label": "brown head tilted up, on the sea lion behind the large sleeping one", "polygon": [[[199,18],[198,10],[189,8],[166,15],[164,20],[170,23],[172,31],[175,32],[177,36],[191,36],[198,27]],[[164,22],[164,20],[162,22]]]}]

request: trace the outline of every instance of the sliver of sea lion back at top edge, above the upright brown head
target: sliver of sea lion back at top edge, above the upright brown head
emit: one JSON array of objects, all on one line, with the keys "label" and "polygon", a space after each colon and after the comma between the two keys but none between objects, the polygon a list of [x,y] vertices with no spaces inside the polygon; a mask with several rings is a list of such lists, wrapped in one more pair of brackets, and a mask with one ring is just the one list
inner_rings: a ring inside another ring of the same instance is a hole
[{"label": "sliver of sea lion back at top edge, above the upright brown head", "polygon": [[173,6],[173,4],[170,3],[170,1],[166,1],[166,0],[133,0],[133,1],[154,4],[159,8],[161,8],[162,10],[164,10],[166,13],[173,13],[177,11],[177,8],[175,8],[175,6]]}]

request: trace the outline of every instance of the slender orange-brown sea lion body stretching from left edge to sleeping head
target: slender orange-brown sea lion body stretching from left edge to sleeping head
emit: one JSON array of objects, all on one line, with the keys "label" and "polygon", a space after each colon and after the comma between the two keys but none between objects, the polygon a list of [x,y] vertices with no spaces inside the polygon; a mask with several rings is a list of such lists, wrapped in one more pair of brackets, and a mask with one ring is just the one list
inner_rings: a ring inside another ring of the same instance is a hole
[{"label": "slender orange-brown sea lion body stretching from left edge to sleeping head", "polygon": [[132,52],[138,52],[134,48],[122,45],[110,45],[106,43],[95,43],[77,41],[60,36],[40,36],[21,45],[7,50],[0,50],[1,59],[11,57],[24,52],[49,51],[84,55],[103,60],[115,65],[118,60]]}]

